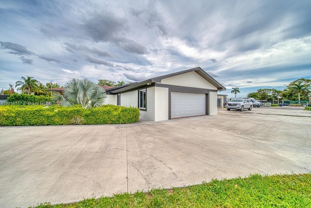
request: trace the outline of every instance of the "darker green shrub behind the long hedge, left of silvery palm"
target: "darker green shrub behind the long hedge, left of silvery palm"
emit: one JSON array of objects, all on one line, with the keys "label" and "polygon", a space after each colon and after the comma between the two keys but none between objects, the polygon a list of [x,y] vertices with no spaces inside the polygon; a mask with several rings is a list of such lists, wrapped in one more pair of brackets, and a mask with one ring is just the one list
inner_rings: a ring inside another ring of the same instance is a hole
[{"label": "darker green shrub behind the long hedge, left of silvery palm", "polygon": [[28,94],[13,94],[6,99],[7,102],[12,102],[14,105],[40,105],[50,101],[49,96],[43,95],[28,95]]}]

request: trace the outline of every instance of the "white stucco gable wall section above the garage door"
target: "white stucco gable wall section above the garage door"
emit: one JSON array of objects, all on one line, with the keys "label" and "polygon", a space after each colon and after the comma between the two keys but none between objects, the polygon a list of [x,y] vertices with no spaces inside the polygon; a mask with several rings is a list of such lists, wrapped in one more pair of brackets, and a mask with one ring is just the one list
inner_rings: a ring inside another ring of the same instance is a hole
[{"label": "white stucco gable wall section above the garage door", "polygon": [[204,88],[210,90],[217,90],[217,88],[209,83],[202,76],[198,75],[196,72],[189,72],[182,75],[172,76],[162,79],[162,84],[171,84],[177,86]]}]

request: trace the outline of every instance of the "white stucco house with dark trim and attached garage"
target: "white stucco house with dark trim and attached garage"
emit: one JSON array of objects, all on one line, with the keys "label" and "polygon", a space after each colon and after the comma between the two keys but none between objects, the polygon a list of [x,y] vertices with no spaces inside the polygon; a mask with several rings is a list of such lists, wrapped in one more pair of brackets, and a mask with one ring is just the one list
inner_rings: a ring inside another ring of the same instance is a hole
[{"label": "white stucco house with dark trim and attached garage", "polygon": [[217,92],[225,87],[197,67],[106,89],[106,104],[134,106],[143,119],[217,114]]}]

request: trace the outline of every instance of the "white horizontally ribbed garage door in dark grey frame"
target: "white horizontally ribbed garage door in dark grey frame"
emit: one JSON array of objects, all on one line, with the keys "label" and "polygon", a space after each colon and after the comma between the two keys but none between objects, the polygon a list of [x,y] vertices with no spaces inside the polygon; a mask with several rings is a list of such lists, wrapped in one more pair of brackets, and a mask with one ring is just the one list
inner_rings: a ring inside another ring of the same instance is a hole
[{"label": "white horizontally ribbed garage door in dark grey frame", "polygon": [[194,93],[171,93],[171,118],[205,115],[206,95]]}]

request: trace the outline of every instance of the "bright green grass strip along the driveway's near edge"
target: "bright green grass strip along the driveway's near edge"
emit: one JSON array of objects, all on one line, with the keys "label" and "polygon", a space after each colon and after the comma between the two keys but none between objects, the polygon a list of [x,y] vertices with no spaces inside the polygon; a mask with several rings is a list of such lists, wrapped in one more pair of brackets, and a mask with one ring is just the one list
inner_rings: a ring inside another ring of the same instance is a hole
[{"label": "bright green grass strip along the driveway's near edge", "polygon": [[37,208],[310,208],[311,172],[250,175],[212,180],[186,188],[152,189],[116,194],[73,204],[40,204]]}]

